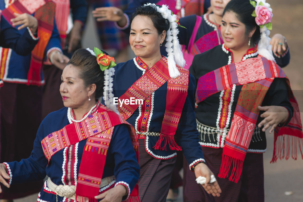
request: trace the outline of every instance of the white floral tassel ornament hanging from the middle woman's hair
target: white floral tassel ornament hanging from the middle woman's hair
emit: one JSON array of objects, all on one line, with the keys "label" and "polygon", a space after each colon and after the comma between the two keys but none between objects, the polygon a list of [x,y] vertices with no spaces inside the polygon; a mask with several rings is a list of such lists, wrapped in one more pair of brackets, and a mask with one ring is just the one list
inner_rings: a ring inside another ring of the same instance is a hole
[{"label": "white floral tassel ornament hanging from the middle woman's hair", "polygon": [[145,4],[145,6],[154,6],[155,9],[157,9],[157,11],[161,13],[162,17],[164,19],[168,19],[169,21],[170,28],[166,33],[165,47],[168,55],[167,63],[169,76],[171,78],[176,78],[181,75],[178,68],[176,67],[176,64],[181,67],[184,67],[185,65],[181,45],[179,44],[179,40],[177,37],[179,33],[179,30],[177,28],[178,24],[177,22],[175,22],[177,20],[177,15],[171,15],[171,10],[168,9],[167,5],[162,5],[162,7],[158,7],[155,4],[148,3]]}]

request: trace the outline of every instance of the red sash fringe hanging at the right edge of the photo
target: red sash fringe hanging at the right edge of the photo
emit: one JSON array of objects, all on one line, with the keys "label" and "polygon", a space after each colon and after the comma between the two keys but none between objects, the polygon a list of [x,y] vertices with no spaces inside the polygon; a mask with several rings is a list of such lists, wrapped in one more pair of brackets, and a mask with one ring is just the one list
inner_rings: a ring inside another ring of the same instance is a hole
[{"label": "red sash fringe hanging at the right edge of the photo", "polygon": [[[286,156],[285,156],[285,137],[286,137]],[[282,160],[285,157],[285,159],[288,160],[290,157],[290,153],[291,153],[291,157],[294,160],[297,160],[297,158],[298,158],[297,145],[299,145],[301,157],[303,159],[303,153],[302,153],[303,139],[302,138],[292,136],[292,135],[275,136],[274,152],[273,152],[270,163],[276,163],[278,158],[280,158],[280,160]]]}]

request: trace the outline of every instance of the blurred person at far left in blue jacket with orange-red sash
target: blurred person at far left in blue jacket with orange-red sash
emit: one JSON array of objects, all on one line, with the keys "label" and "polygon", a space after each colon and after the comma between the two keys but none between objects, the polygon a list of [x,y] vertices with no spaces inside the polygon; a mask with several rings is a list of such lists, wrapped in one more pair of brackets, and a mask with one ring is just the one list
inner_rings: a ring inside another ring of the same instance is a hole
[{"label": "blurred person at far left in blue jacket with orange-red sash", "polygon": [[[42,113],[42,63],[47,58],[56,66],[64,66],[68,58],[58,50],[60,37],[55,24],[55,3],[22,5],[17,0],[1,1],[0,9],[13,16],[15,10],[32,13],[38,23],[39,42],[27,56],[20,56],[12,49],[1,47],[0,89],[1,99],[1,161],[21,160],[30,155],[35,133],[41,123]],[[22,2],[25,3],[25,2]],[[33,13],[34,12],[34,13]],[[15,22],[14,25],[22,24]],[[28,32],[17,26],[19,33]],[[38,193],[43,181],[17,184],[1,194],[0,198],[14,199]]]}]

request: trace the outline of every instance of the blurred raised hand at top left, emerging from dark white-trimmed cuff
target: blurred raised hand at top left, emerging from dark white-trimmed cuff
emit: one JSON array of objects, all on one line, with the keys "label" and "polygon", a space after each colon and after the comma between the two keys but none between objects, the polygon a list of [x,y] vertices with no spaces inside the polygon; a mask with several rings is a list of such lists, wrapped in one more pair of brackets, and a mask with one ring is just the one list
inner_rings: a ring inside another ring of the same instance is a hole
[{"label": "blurred raised hand at top left, emerging from dark white-trimmed cuff", "polygon": [[33,33],[37,32],[38,29],[38,20],[27,13],[14,13],[15,18],[11,19],[11,22],[13,23],[12,25],[15,27],[17,25],[21,25],[18,27],[18,30],[23,29],[25,27],[28,27],[31,29]]}]

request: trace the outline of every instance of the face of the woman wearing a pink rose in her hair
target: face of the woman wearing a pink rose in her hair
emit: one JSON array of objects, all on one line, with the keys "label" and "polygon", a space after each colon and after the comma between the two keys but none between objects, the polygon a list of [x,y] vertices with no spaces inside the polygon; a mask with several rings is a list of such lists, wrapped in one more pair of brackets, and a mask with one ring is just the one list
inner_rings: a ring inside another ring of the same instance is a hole
[{"label": "face of the woman wearing a pink rose in her hair", "polygon": [[226,47],[230,49],[248,49],[249,38],[255,29],[246,33],[245,25],[239,21],[234,12],[225,12],[222,18],[221,34]]}]

